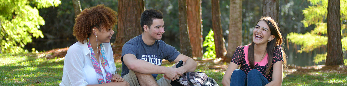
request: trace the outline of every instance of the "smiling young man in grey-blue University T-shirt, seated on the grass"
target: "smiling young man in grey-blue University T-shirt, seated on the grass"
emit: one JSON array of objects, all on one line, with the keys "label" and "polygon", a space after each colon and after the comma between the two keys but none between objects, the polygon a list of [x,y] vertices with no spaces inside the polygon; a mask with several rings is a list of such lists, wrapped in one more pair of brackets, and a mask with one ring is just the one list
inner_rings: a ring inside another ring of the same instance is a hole
[{"label": "smiling young man in grey-blue University T-shirt, seated on the grass", "polygon": [[[122,48],[122,73],[130,86],[171,86],[180,75],[195,71],[196,62],[175,47],[160,40],[164,31],[163,13],[147,9],[141,14],[142,34],[126,42]],[[162,60],[185,62],[179,68],[161,66]],[[163,78],[156,80],[158,74]]]}]

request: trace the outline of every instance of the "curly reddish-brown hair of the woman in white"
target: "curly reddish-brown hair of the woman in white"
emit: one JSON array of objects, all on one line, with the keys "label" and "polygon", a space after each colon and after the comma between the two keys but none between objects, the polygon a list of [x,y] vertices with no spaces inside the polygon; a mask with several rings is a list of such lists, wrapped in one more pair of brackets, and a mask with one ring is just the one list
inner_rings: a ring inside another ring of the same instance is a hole
[{"label": "curly reddish-brown hair of the woman in white", "polygon": [[117,12],[104,5],[84,9],[75,19],[74,33],[82,44],[91,35],[92,28],[112,28],[118,23]]}]

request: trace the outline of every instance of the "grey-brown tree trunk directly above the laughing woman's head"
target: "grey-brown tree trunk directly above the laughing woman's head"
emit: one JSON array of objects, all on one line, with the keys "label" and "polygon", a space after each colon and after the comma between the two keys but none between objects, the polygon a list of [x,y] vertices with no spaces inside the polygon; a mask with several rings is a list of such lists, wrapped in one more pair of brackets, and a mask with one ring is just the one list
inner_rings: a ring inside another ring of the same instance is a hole
[{"label": "grey-brown tree trunk directly above the laughing woman's head", "polygon": [[279,0],[263,0],[263,15],[272,17],[278,22]]}]

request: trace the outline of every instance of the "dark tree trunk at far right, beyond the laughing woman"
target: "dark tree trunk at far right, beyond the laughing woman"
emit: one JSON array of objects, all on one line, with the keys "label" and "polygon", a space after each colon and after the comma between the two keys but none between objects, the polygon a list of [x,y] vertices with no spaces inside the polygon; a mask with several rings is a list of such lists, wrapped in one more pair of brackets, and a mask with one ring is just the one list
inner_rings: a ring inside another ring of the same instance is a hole
[{"label": "dark tree trunk at far right, beyond the laughing woman", "polygon": [[341,44],[340,0],[328,0],[328,55],[325,65],[344,65]]}]

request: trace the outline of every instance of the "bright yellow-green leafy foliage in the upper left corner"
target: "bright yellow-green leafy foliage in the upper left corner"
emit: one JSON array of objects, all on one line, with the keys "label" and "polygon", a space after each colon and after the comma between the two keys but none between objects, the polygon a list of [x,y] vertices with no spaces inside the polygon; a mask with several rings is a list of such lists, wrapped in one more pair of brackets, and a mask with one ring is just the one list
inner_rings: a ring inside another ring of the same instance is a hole
[{"label": "bright yellow-green leafy foliage in the upper left corner", "polygon": [[43,37],[39,29],[45,22],[37,8],[57,7],[60,3],[59,0],[1,0],[0,51],[22,53],[24,45],[32,42],[32,37]]}]

